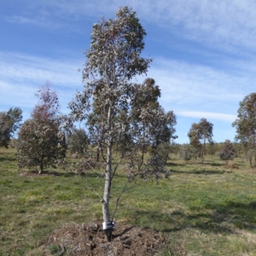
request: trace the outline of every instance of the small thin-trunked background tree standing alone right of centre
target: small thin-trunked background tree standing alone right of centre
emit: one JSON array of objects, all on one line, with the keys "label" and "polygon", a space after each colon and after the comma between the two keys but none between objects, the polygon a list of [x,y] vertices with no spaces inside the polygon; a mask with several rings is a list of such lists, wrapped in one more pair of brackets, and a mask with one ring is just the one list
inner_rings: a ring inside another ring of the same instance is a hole
[{"label": "small thin-trunked background tree standing alone right of centre", "polygon": [[191,125],[191,129],[188,132],[190,144],[194,148],[195,154],[200,154],[202,164],[204,164],[206,141],[210,143],[212,140],[212,129],[213,124],[207,122],[205,118],[201,118],[198,124],[194,123]]}]

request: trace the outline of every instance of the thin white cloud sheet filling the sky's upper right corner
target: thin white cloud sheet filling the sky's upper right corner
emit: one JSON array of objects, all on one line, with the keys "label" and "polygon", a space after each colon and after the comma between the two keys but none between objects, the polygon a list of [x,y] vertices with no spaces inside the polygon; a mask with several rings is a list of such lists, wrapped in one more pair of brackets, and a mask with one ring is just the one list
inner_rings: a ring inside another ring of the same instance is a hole
[{"label": "thin white cloud sheet filling the sky's upper right corner", "polygon": [[[138,10],[143,19],[156,22],[180,37],[207,42],[215,47],[246,47],[256,50],[255,1],[152,1]],[[149,20],[150,19],[150,20]]]}]

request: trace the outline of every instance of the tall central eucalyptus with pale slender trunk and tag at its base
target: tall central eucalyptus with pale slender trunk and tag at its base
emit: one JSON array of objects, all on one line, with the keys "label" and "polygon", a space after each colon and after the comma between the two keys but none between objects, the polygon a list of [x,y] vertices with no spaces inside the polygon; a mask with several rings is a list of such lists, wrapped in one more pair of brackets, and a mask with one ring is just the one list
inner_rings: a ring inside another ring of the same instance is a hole
[{"label": "tall central eucalyptus with pale slender trunk and tag at its base", "polygon": [[[111,215],[109,198],[118,164],[124,159],[131,159],[134,148],[143,143],[133,122],[138,85],[132,83],[132,78],[146,74],[152,61],[140,56],[145,35],[136,13],[127,6],[118,9],[115,19],[102,18],[93,24],[90,49],[85,51],[84,90],[78,92],[69,104],[70,115],[67,119],[84,122],[89,138],[97,145],[104,162],[104,191],[100,200],[104,225],[110,225],[109,230],[104,227],[108,241],[111,241],[111,223],[120,198]],[[157,97],[158,90],[153,87],[152,90],[156,90],[154,97]],[[149,96],[153,97],[148,93]],[[151,114],[162,116],[163,111],[153,109],[150,103],[147,111],[140,109],[136,113],[141,120]],[[145,172],[145,175],[150,173]],[[127,182],[132,177],[134,172],[129,168]]]}]

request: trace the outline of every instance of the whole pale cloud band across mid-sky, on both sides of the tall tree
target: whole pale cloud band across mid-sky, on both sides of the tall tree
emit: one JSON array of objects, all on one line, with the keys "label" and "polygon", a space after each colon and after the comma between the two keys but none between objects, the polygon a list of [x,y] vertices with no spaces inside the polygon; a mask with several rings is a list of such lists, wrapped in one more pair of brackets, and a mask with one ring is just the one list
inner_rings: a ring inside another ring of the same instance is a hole
[{"label": "whole pale cloud band across mid-sky, on both sides of the tall tree", "polygon": [[[7,103],[7,95],[17,92],[17,97],[19,93],[24,93],[22,99],[30,104],[26,96],[28,92],[35,92],[38,86],[49,80],[60,88],[63,104],[66,106],[72,99],[72,94],[76,90],[82,90],[81,73],[77,72],[77,68],[82,67],[81,64],[72,59],[56,60],[0,52],[0,102]],[[224,116],[234,115],[238,102],[252,92],[252,81],[255,81],[255,77],[252,74],[247,75],[236,76],[202,65],[189,65],[182,61],[161,58],[156,59],[148,71],[148,77],[153,77],[161,88],[160,101],[166,110],[194,114],[205,111],[222,113]],[[143,79],[145,77],[140,77],[139,82]],[[68,93],[65,93],[67,90]],[[222,118],[221,115],[218,116]]]}]

